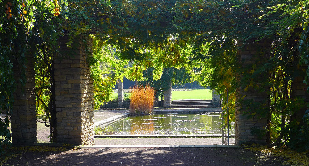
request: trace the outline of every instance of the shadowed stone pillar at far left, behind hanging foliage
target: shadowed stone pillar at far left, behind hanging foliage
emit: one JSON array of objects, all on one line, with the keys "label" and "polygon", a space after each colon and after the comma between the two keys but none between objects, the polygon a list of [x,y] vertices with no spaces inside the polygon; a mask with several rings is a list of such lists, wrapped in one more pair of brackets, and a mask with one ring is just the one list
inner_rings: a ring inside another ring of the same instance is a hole
[{"label": "shadowed stone pillar at far left, behind hanging foliage", "polygon": [[11,112],[11,131],[13,144],[30,144],[37,142],[36,133],[36,97],[33,56],[26,55],[26,83],[20,84],[21,71],[14,63],[14,77],[17,83]]}]

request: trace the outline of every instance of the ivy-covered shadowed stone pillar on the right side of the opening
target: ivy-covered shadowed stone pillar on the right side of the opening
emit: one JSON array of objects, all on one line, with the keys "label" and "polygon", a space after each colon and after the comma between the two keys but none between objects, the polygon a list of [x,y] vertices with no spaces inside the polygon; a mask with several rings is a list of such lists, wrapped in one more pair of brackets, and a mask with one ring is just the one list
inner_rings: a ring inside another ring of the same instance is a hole
[{"label": "ivy-covered shadowed stone pillar on the right side of the opening", "polygon": [[[252,64],[259,65],[263,64],[265,59],[267,59],[267,43],[259,42],[252,44],[246,44],[239,51],[239,63],[242,68],[246,68],[244,72],[248,72],[252,69]],[[238,73],[238,79],[243,82],[242,72]],[[254,81],[254,83],[259,84],[263,79],[267,79],[267,76],[259,76]],[[246,85],[245,85],[246,86]],[[260,85],[262,86],[262,85]],[[238,94],[236,95],[236,105],[235,108],[235,145],[242,144],[244,142],[254,142],[260,144],[266,144],[266,126],[267,117],[259,116],[259,114],[252,115],[256,110],[250,108],[251,105],[245,105],[244,101],[251,101],[251,103],[262,104],[261,108],[256,108],[258,110],[263,110],[269,112],[268,99],[269,96],[264,87],[262,89],[253,89],[249,87],[239,87],[237,89]],[[250,117],[249,117],[250,116]]]}]

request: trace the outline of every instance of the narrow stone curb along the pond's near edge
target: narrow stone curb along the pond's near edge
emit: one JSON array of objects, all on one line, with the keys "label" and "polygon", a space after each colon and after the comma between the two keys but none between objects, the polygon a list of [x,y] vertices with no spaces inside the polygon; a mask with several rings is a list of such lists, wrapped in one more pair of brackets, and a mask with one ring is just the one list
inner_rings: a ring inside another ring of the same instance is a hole
[{"label": "narrow stone curb along the pond's near edge", "polygon": [[[134,135],[95,135],[95,138],[164,138],[164,137],[172,137],[172,138],[186,138],[186,137],[218,137],[221,138],[221,134],[165,134],[165,135],[142,135],[142,134],[134,134]],[[235,135],[230,135],[230,137],[235,137]]]}]

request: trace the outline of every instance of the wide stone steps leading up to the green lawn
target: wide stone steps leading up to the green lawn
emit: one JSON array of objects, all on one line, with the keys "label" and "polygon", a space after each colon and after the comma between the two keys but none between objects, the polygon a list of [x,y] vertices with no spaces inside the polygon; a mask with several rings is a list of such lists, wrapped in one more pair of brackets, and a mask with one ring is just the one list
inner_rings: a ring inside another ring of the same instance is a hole
[{"label": "wide stone steps leading up to the green lawn", "polygon": [[209,108],[212,100],[173,100],[170,108]]}]

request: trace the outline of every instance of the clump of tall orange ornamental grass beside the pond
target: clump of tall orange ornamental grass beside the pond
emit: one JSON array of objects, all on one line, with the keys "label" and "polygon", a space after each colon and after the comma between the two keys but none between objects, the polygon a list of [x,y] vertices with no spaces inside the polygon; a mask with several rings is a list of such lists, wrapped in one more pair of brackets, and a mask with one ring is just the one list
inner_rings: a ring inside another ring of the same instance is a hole
[{"label": "clump of tall orange ornamental grass beside the pond", "polygon": [[149,85],[135,86],[130,89],[130,113],[151,114],[153,112],[155,89]]}]

